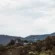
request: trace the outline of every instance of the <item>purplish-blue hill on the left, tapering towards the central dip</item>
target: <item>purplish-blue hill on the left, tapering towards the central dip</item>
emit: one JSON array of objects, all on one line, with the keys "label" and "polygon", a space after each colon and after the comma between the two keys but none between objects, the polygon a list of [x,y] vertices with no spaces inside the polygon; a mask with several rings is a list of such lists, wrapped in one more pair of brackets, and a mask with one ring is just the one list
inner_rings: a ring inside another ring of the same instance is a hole
[{"label": "purplish-blue hill on the left, tapering towards the central dip", "polygon": [[17,36],[0,35],[0,44],[7,44],[12,39],[15,40],[15,39],[23,39],[23,38]]}]

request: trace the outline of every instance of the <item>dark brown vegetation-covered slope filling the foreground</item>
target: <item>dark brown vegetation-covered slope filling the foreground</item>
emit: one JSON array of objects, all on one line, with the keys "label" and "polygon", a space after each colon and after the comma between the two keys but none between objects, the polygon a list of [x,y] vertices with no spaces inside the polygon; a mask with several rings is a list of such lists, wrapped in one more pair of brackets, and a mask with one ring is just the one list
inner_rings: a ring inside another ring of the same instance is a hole
[{"label": "dark brown vegetation-covered slope filling the foreground", "polygon": [[17,42],[11,40],[6,46],[0,45],[0,55],[55,55],[55,36],[32,43],[20,39]]}]

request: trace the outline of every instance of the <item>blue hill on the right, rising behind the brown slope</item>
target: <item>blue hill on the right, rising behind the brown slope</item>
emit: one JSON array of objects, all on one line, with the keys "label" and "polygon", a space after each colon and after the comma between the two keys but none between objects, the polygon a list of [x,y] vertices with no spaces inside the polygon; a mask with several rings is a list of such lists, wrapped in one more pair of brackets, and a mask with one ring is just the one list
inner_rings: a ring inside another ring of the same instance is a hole
[{"label": "blue hill on the right, rising behind the brown slope", "polygon": [[34,41],[35,42],[37,40],[43,40],[43,39],[45,39],[48,36],[55,36],[55,33],[44,34],[44,35],[30,35],[30,36],[27,36],[25,38],[25,40],[27,40],[27,41]]}]

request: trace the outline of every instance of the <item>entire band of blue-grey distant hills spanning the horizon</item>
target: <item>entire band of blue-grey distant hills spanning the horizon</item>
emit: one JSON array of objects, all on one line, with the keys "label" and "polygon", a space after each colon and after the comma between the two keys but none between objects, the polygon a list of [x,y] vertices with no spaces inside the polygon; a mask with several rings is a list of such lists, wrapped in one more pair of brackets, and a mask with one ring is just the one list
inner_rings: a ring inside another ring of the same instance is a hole
[{"label": "entire band of blue-grey distant hills spanning the horizon", "polygon": [[36,41],[36,40],[43,40],[44,38],[48,36],[55,36],[55,33],[51,34],[44,34],[44,35],[30,35],[25,38],[17,37],[17,36],[9,36],[9,35],[0,35],[0,44],[7,44],[12,39],[21,39],[21,40],[27,40],[27,41]]}]

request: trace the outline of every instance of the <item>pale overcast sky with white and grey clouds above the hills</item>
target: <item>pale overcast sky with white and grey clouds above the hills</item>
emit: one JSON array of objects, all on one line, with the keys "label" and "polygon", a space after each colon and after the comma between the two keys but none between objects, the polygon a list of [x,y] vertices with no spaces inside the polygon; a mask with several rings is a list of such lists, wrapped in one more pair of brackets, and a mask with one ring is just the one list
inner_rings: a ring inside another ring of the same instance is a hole
[{"label": "pale overcast sky with white and grey clouds above the hills", "polygon": [[55,32],[55,0],[0,0],[0,34],[26,37]]}]

